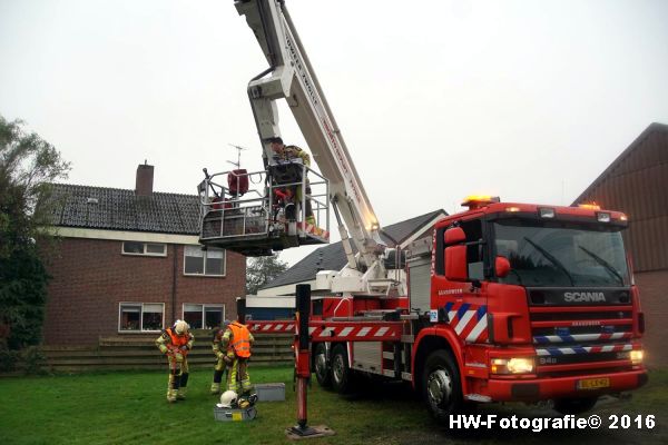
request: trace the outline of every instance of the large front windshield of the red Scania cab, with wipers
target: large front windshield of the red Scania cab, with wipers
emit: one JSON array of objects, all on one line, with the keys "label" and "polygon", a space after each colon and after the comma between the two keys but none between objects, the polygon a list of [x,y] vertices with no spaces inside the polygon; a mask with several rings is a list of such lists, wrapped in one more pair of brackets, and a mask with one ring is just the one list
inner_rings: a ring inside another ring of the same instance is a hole
[{"label": "large front windshield of the red Scania cab, with wipers", "polygon": [[629,283],[619,227],[559,221],[495,221],[497,255],[510,261],[501,283],[531,287],[620,287]]}]

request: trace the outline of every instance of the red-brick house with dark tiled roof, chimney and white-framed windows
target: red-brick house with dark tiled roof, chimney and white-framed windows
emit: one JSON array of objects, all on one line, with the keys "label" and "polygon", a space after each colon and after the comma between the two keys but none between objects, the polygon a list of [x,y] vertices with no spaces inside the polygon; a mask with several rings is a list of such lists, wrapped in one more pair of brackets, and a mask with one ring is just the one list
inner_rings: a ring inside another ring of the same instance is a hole
[{"label": "red-brick house with dark tiled roof, chimney and white-framed windows", "polygon": [[154,167],[135,190],[53,185],[45,345],[91,346],[101,337],[154,337],[175,319],[210,328],[236,317],[246,258],[198,244],[195,195],[155,192]]}]

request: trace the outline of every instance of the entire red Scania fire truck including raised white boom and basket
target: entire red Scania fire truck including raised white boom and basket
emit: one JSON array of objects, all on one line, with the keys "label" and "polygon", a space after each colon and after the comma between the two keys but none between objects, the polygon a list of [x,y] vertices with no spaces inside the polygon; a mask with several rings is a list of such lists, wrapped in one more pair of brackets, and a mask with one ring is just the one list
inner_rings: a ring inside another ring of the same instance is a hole
[{"label": "entire red Scania fire truck including raised white boom and basket", "polygon": [[[468,210],[444,217],[430,237],[404,251],[387,248],[284,2],[235,6],[269,63],[248,86],[267,169],[207,176],[200,241],[246,255],[326,243],[333,209],[347,265],[318,274],[303,324],[321,385],[344,393],[360,375],[406,380],[435,418],[446,419],[466,404],[505,400],[553,400],[561,413],[582,413],[601,395],[647,382],[623,214],[470,197]],[[304,164],[273,160],[281,98],[322,177]],[[227,185],[216,182],[226,175]],[[233,187],[244,175],[261,190]],[[285,187],[304,191],[289,202],[296,211],[277,198]],[[307,200],[315,224],[306,222]],[[250,326],[294,333],[297,323]],[[303,352],[304,344],[296,354],[302,373]]]}]

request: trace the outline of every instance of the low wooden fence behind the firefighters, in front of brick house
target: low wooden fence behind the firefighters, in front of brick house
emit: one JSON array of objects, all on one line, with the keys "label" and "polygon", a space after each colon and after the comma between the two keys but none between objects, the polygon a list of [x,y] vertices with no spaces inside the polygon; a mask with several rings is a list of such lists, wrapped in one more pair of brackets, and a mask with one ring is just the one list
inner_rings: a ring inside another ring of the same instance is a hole
[{"label": "low wooden fence behind the firefighters, in front of brick house", "polygon": [[[195,345],[188,354],[190,368],[214,366],[212,333],[196,330]],[[53,372],[161,369],[167,360],[154,344],[154,336],[100,337],[97,346],[42,346],[46,364]],[[256,335],[250,363],[257,365],[287,365],[294,362],[291,334]]]}]

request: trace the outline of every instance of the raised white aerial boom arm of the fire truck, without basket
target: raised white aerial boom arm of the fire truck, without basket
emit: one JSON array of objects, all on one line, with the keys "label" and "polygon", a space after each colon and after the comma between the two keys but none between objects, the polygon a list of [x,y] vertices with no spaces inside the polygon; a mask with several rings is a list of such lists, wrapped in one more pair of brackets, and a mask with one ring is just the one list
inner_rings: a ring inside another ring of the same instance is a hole
[{"label": "raised white aerial boom arm of the fire truck, without basket", "polygon": [[[348,267],[372,275],[384,274],[380,253],[384,243],[380,225],[352,162],[313,67],[283,1],[237,0],[246,21],[269,63],[248,85],[253,113],[264,147],[265,165],[272,164],[268,138],[281,136],[276,100],[285,99],[304,135],[321,172],[330,181]],[[347,228],[347,230],[346,230]],[[350,240],[354,243],[355,257]]]}]

